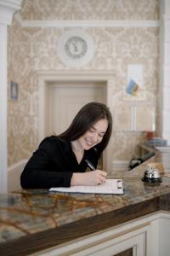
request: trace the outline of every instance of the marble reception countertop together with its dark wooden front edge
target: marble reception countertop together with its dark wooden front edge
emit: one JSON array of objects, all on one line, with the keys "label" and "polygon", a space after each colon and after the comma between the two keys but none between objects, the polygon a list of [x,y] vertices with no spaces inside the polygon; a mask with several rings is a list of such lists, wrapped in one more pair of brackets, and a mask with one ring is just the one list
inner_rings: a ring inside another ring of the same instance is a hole
[{"label": "marble reception countertop together with its dark wooden front edge", "polygon": [[[162,183],[141,181],[146,165],[151,161],[163,163]],[[170,210],[170,201],[167,200],[170,195],[170,154],[157,153],[131,171],[114,173],[112,178],[122,178],[124,195],[54,194],[44,189],[0,195],[0,254],[6,252],[4,255],[19,256],[26,255],[26,252],[35,253],[36,250],[93,233],[96,230],[92,224],[94,220],[96,224],[102,222],[99,225],[99,230],[102,230],[158,211],[161,201],[165,209]],[[137,207],[140,210],[135,212]],[[108,221],[113,216],[116,218]],[[72,227],[81,233],[73,236]],[[47,235],[53,239],[45,244]],[[16,254],[10,254],[12,247],[20,244],[25,245],[23,251],[20,249]],[[32,244],[31,249],[29,244]]]}]

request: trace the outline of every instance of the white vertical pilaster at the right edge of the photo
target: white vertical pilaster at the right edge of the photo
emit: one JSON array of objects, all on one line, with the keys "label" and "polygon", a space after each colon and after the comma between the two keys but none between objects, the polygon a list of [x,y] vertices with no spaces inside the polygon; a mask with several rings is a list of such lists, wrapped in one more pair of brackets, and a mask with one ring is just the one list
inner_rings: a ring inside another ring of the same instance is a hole
[{"label": "white vertical pilaster at the right edge of the photo", "polygon": [[170,145],[170,1],[160,1],[160,115],[161,136]]}]

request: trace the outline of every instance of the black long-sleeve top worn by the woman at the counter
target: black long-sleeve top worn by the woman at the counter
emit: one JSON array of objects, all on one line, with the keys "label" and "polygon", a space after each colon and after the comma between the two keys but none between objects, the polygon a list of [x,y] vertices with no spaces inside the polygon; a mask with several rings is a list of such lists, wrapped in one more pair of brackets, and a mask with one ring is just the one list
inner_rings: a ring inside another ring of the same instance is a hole
[{"label": "black long-sleeve top worn by the woman at the counter", "polygon": [[71,142],[55,136],[46,137],[27,162],[20,176],[20,184],[23,189],[69,187],[73,172],[86,171],[85,159],[90,160],[96,168],[99,154],[90,148],[84,152],[78,164]]}]

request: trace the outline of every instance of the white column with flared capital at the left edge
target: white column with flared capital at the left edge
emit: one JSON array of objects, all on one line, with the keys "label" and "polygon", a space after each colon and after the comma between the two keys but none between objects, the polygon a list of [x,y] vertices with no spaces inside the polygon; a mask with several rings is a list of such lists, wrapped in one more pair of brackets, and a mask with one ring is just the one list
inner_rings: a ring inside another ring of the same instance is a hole
[{"label": "white column with flared capital at the left edge", "polygon": [[0,2],[0,193],[7,192],[7,30],[20,3],[21,0]]}]

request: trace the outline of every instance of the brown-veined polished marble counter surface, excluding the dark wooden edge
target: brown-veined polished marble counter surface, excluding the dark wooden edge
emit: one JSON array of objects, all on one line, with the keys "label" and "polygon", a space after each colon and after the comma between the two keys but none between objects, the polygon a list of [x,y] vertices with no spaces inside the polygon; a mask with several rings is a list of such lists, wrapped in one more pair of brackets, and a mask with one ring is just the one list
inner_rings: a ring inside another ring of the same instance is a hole
[{"label": "brown-veined polished marble counter surface, excluding the dark wooden edge", "polygon": [[54,194],[44,189],[0,195],[0,243],[169,194],[169,156],[155,159],[167,165],[162,183],[156,185],[141,181],[146,163],[129,172],[116,172],[112,177],[122,178],[124,195]]}]

